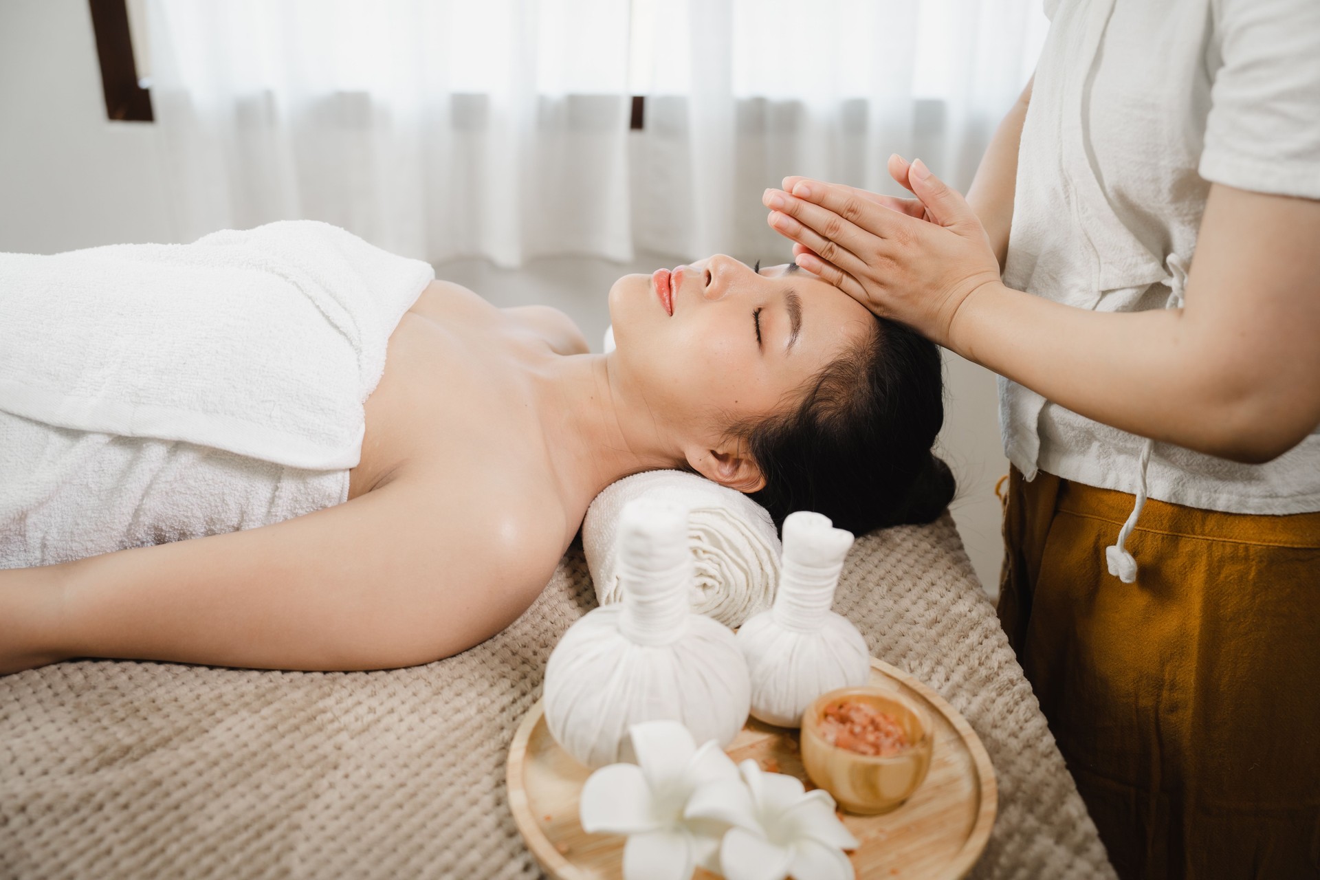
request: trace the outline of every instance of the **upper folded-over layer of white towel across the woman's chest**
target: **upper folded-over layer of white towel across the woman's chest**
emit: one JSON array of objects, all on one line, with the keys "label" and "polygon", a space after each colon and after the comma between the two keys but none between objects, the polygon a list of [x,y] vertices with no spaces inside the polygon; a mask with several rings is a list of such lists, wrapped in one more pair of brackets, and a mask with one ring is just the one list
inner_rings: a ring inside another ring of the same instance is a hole
[{"label": "upper folded-over layer of white towel across the woman's chest", "polygon": [[314,220],[0,253],[0,410],[297,468],[354,467],[430,265]]}]

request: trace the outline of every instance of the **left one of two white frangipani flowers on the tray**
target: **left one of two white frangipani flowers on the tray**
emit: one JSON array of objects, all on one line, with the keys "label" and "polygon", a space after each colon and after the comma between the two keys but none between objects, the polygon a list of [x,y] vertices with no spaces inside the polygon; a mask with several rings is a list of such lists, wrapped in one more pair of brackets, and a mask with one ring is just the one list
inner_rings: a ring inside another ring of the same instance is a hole
[{"label": "left one of two white frangipani flowers on the tray", "polygon": [[634,724],[628,739],[638,763],[602,767],[582,786],[582,830],[628,836],[624,880],[688,880],[697,865],[718,873],[719,842],[729,826],[685,818],[684,807],[706,785],[742,788],[738,768],[715,740],[697,748],[678,722]]}]

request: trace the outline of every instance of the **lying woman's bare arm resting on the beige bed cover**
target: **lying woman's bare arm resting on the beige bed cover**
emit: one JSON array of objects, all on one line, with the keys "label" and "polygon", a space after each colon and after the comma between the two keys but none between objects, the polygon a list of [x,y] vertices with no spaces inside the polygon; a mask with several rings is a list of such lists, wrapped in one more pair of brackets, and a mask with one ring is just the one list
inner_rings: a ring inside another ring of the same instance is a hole
[{"label": "lying woman's bare arm resting on the beige bed cover", "polygon": [[553,571],[552,541],[537,546],[517,525],[471,513],[455,512],[433,486],[400,479],[275,525],[28,570],[57,584],[59,598],[33,617],[45,632],[25,646],[46,662],[429,662],[512,623]]}]

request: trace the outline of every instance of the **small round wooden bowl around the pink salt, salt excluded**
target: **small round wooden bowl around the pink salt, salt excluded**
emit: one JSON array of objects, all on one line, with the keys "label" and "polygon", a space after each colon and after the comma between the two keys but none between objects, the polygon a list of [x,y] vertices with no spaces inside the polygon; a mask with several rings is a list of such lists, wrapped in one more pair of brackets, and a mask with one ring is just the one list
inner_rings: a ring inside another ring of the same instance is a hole
[{"label": "small round wooden bowl around the pink salt, salt excluded", "polygon": [[[894,755],[861,755],[821,736],[825,710],[838,702],[869,703],[896,720],[908,745]],[[816,785],[851,813],[888,813],[908,800],[931,769],[935,736],[925,711],[888,687],[840,687],[821,694],[803,712],[803,767]]]}]

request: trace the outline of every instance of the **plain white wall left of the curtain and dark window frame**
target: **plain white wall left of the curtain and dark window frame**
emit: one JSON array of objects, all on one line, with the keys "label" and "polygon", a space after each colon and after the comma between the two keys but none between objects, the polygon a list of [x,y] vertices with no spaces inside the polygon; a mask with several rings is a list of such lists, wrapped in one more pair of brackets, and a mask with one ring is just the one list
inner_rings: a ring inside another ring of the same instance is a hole
[{"label": "plain white wall left of the curtain and dark window frame", "polygon": [[173,240],[157,149],[106,119],[86,0],[0,0],[0,251]]}]

